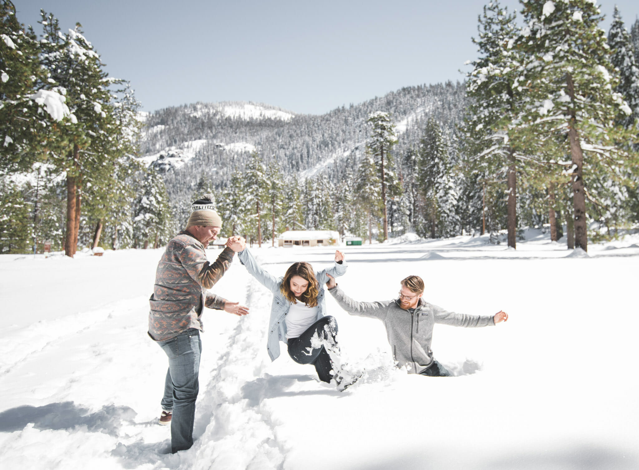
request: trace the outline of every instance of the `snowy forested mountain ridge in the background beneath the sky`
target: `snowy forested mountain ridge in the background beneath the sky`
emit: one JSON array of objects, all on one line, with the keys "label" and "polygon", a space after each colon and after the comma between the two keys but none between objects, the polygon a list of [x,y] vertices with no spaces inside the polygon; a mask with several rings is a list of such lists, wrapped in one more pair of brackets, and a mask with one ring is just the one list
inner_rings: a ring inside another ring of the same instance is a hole
[{"label": "snowy forested mountain ridge in the background beneath the sky", "polygon": [[467,102],[463,83],[446,82],[401,88],[319,116],[244,102],[169,107],[146,118],[141,160],[164,175],[173,201],[189,198],[202,173],[216,189],[224,187],[253,150],[265,163],[276,160],[286,175],[330,177],[330,169],[357,166],[371,113],[390,113],[399,137],[394,153],[401,155],[419,143],[430,117],[454,130]]}]

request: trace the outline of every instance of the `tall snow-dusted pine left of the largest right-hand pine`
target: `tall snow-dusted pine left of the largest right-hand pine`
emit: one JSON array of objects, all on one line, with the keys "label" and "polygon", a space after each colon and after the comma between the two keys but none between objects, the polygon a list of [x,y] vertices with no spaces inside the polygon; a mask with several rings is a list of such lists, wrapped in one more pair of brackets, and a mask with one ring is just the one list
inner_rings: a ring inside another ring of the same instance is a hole
[{"label": "tall snow-dusted pine left of the largest right-hand pine", "polygon": [[516,15],[497,1],[484,6],[477,27],[479,38],[473,38],[481,57],[472,62],[473,71],[466,82],[468,96],[474,100],[465,123],[466,148],[473,155],[466,164],[491,178],[504,175],[507,180],[508,246],[513,248],[517,228],[516,175],[521,155],[516,152],[511,127],[523,107],[519,81],[525,76],[515,19]]}]

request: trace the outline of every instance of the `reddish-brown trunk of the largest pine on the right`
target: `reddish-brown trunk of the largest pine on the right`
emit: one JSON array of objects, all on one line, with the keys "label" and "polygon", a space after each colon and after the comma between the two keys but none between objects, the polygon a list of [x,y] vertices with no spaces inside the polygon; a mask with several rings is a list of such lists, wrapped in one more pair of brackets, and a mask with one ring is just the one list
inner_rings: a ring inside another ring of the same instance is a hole
[{"label": "reddish-brown trunk of the largest pine on the right", "polygon": [[[571,74],[566,75],[568,95],[574,102],[574,82]],[[573,208],[574,208],[574,245],[588,251],[588,228],[586,225],[586,193],[583,186],[583,152],[576,128],[576,114],[571,111],[568,127],[570,153],[573,161]]]}]

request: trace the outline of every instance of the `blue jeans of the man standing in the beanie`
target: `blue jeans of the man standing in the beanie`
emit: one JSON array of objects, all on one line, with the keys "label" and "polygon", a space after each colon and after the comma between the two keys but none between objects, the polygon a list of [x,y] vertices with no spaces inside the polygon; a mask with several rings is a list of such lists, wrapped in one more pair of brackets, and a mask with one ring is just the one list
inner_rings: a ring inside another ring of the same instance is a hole
[{"label": "blue jeans of the man standing in the beanie", "polygon": [[199,330],[189,328],[170,340],[158,341],[158,344],[169,356],[169,370],[164,381],[161,404],[163,410],[173,412],[171,451],[176,453],[193,445],[202,342]]}]

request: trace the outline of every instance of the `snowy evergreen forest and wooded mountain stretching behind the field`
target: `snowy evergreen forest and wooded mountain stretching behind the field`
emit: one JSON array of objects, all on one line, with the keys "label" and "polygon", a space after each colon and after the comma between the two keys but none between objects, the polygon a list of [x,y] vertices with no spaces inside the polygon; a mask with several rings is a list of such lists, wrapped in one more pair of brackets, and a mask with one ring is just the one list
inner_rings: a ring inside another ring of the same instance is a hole
[{"label": "snowy evergreen forest and wooded mountain stretching behind the field", "polygon": [[[0,0],[0,253],[159,247],[215,196],[222,235],[383,240],[525,227],[587,250],[639,224],[639,20],[589,0],[484,6],[463,81],[323,115],[195,103],[142,113],[82,32]],[[471,33],[469,32],[469,36]]]}]

